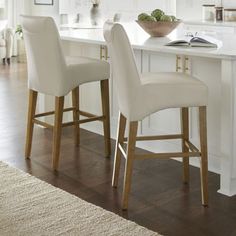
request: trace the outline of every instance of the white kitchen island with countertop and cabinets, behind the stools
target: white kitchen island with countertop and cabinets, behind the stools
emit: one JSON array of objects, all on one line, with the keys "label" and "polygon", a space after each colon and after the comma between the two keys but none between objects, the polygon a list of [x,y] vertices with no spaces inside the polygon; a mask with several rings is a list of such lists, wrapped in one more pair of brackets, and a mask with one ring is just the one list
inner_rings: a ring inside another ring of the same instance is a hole
[{"label": "white kitchen island with countertop and cabinets, behind the stools", "polygon": [[[190,73],[204,81],[209,88],[208,146],[209,169],[220,174],[219,192],[228,196],[236,194],[236,34],[217,34],[213,37],[223,42],[221,48],[167,47],[170,40],[183,36],[181,29],[168,37],[150,38],[136,24],[124,25],[134,48],[141,73],[178,71]],[[78,29],[60,32],[66,55],[88,56],[109,60],[102,29]],[[111,131],[115,137],[118,105],[115,85],[111,74]],[[100,112],[98,84],[81,86],[82,109]],[[90,94],[88,98],[88,94]],[[49,100],[41,100],[47,108]],[[190,112],[190,138],[198,145],[197,110]],[[67,118],[67,117],[66,117]],[[99,124],[84,128],[101,133]],[[179,127],[179,109],[161,111],[140,123],[140,134],[151,135],[175,133]],[[142,143],[139,147],[150,151],[176,151],[178,142]],[[191,160],[191,159],[190,159]],[[197,158],[191,161],[198,166]]]}]

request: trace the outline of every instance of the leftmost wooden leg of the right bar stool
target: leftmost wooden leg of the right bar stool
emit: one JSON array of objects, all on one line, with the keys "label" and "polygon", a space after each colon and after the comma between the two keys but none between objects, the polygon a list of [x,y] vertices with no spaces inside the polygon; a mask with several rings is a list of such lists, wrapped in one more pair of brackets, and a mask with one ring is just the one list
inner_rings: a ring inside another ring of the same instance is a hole
[{"label": "leftmost wooden leg of the right bar stool", "polygon": [[125,136],[125,126],[126,126],[126,118],[120,113],[119,114],[119,123],[118,123],[118,133],[116,139],[116,150],[115,150],[115,160],[114,160],[114,168],[113,168],[113,176],[112,176],[112,186],[117,187],[119,173],[120,173],[120,161],[121,161],[121,151],[119,149],[119,144],[123,146],[124,136]]}]

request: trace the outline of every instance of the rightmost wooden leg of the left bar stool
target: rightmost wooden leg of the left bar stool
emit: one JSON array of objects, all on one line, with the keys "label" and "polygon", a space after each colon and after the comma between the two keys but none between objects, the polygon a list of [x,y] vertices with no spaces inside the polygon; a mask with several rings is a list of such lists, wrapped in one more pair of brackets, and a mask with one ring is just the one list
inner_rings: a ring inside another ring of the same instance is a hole
[{"label": "rightmost wooden leg of the left bar stool", "polygon": [[103,120],[105,155],[111,155],[111,134],[110,134],[110,105],[109,105],[109,80],[101,81],[101,98],[102,98],[102,113],[105,119]]}]

